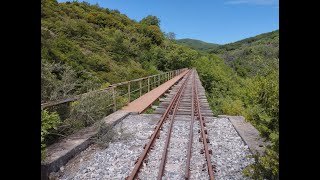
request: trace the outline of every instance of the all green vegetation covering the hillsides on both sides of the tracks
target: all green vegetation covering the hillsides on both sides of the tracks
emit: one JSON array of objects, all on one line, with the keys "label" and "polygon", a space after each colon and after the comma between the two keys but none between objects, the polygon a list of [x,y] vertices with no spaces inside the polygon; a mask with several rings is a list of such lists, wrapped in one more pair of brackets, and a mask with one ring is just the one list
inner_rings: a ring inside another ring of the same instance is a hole
[{"label": "all green vegetation covering the hillsides on both sides of the tracks", "polygon": [[[175,41],[174,33],[161,31],[160,23],[151,15],[136,22],[86,2],[42,0],[41,101],[193,66],[214,114],[245,116],[272,142],[245,174],[278,179],[279,31],[218,46]],[[62,107],[69,116],[61,108],[43,110],[42,155],[55,136],[66,136],[110,113],[103,108],[106,102],[105,94],[89,94]]]}]

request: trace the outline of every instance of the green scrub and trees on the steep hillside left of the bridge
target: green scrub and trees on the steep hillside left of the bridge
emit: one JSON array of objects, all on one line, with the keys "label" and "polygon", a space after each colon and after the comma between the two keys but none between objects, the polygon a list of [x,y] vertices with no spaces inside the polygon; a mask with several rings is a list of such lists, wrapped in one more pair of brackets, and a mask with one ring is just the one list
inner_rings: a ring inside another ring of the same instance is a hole
[{"label": "green scrub and trees on the steep hillside left of the bridge", "polygon": [[[162,32],[160,23],[156,16],[136,22],[117,10],[86,2],[42,0],[41,102],[190,67],[199,53],[176,44],[173,33]],[[111,113],[107,101],[106,94],[88,94],[43,111],[42,151]]]}]

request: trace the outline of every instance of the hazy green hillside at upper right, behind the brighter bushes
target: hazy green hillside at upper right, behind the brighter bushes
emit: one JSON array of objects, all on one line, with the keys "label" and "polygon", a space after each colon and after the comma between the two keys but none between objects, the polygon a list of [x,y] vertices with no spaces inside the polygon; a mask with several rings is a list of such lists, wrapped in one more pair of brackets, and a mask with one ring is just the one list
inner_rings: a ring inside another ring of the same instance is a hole
[{"label": "hazy green hillside at upper right, behind the brighter bushes", "polygon": [[279,30],[221,45],[210,53],[220,55],[238,75],[254,76],[278,64]]}]

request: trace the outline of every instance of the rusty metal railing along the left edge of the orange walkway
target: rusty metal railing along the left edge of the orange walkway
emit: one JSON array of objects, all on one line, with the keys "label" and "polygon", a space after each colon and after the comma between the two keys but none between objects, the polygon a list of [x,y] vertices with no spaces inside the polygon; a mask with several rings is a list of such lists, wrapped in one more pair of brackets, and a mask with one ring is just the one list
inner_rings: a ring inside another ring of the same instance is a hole
[{"label": "rusty metal railing along the left edge of the orange walkway", "polygon": [[[87,94],[104,92],[108,94],[110,97],[109,98],[110,104],[108,105],[108,107],[112,107],[113,111],[115,112],[118,108],[121,108],[123,105],[129,104],[134,99],[139,98],[143,94],[160,86],[164,82],[174,78],[177,75],[180,75],[187,69],[188,68],[183,68],[183,69],[164,72],[161,74],[147,76],[139,79],[134,79],[126,82],[116,83],[116,84],[110,85],[108,88],[90,91],[84,94],[76,95],[76,96],[65,98],[65,99],[41,103],[41,109],[74,102]],[[126,103],[118,104],[119,98],[122,98],[122,100],[123,98],[125,99],[127,98]]]}]

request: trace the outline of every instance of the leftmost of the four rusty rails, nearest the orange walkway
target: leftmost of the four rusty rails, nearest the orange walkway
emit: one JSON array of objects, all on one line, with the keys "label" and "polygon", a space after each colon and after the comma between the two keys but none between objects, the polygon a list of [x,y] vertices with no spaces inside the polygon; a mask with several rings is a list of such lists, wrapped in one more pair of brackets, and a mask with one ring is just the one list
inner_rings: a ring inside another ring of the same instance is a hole
[{"label": "leftmost of the four rusty rails, nearest the orange walkway", "polygon": [[[190,72],[191,72],[191,71],[188,70],[188,73],[186,74],[187,77],[190,76],[190,74],[191,74]],[[185,82],[186,82],[186,80],[185,80],[183,83],[185,83]],[[178,92],[180,92],[181,89],[182,89],[182,86],[179,88]],[[138,172],[139,172],[139,170],[140,170],[140,168],[141,168],[142,162],[143,162],[143,160],[146,158],[148,152],[150,151],[151,146],[154,144],[155,139],[156,139],[157,135],[159,134],[160,128],[162,127],[164,121],[167,119],[167,117],[168,117],[168,115],[169,115],[169,112],[171,111],[173,105],[174,105],[175,102],[176,102],[176,99],[178,98],[178,94],[179,94],[179,93],[176,93],[175,96],[172,98],[172,100],[171,100],[168,108],[166,109],[164,115],[162,116],[162,118],[160,119],[159,123],[157,124],[156,129],[155,129],[154,133],[152,134],[152,136],[151,136],[148,144],[146,144],[146,146],[145,146],[145,148],[144,148],[144,151],[143,151],[142,154],[139,156],[138,161],[136,162],[133,170],[132,170],[131,173],[130,173],[130,176],[128,177],[128,180],[133,180],[133,179],[138,175]]]}]

